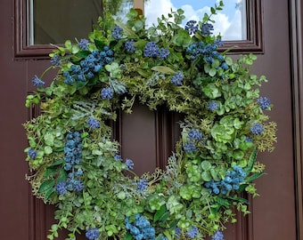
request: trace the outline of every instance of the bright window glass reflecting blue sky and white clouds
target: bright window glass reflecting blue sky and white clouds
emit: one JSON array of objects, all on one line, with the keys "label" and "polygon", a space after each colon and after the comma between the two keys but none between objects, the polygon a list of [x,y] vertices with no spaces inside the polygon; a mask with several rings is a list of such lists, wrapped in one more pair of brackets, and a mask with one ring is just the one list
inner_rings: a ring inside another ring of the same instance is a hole
[{"label": "bright window glass reflecting blue sky and white clouds", "polygon": [[[162,14],[168,15],[170,9],[176,11],[178,8],[184,10],[186,19],[202,20],[205,12],[210,12],[210,7],[214,6],[215,0],[145,0],[144,15],[147,19],[147,25],[157,24],[157,18]],[[223,11],[217,12],[213,16],[215,35],[220,34],[225,41],[247,40],[247,21],[246,21],[246,0],[228,0],[224,1]]]}]

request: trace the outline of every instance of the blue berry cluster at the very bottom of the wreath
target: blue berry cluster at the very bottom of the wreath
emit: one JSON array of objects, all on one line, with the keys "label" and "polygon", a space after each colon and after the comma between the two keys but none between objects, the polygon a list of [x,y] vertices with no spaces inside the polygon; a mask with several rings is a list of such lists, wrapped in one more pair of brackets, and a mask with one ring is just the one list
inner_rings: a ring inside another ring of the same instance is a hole
[{"label": "blue berry cluster at the very bottom of the wreath", "polygon": [[129,218],[125,220],[126,228],[135,240],[155,240],[155,228],[151,227],[149,220],[141,214],[135,214],[135,222],[130,223]]}]

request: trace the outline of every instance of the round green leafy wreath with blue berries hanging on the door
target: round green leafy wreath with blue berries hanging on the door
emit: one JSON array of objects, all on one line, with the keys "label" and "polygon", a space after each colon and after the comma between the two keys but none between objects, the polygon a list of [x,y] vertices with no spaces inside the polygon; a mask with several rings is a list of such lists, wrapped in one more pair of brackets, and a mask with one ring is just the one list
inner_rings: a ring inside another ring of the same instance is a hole
[{"label": "round green leafy wreath with blue berries hanging on the door", "polygon": [[[265,170],[256,156],[274,149],[276,124],[259,95],[266,77],[250,74],[256,57],[219,51],[211,16],[222,7],[184,27],[181,9],[151,28],[130,10],[125,24],[100,18],[87,39],[56,46],[58,73],[47,87],[45,73],[32,79],[26,106],[41,114],[24,124],[27,179],[57,207],[48,239],[66,228],[67,239],[220,240],[236,212],[249,213],[246,196],[258,196],[253,180]],[[166,168],[142,176],[109,124],[135,101],[184,115]]]}]

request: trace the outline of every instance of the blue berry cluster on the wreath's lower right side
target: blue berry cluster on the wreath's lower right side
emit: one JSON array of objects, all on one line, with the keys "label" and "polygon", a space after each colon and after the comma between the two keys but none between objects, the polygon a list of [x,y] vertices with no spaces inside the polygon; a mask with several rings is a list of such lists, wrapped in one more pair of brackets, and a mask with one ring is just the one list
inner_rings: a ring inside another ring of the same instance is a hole
[{"label": "blue berry cluster on the wreath's lower right side", "polygon": [[226,172],[225,179],[220,181],[210,180],[205,183],[205,188],[209,188],[210,193],[216,195],[226,195],[231,190],[238,190],[240,184],[244,182],[246,172],[242,170],[241,166],[234,165],[233,171]]}]

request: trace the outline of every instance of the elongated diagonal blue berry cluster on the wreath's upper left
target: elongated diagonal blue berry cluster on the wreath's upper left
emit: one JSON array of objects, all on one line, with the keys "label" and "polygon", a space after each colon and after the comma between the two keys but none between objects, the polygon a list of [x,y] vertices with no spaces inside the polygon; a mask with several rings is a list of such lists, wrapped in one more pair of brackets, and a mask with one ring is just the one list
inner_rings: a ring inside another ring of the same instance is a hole
[{"label": "elongated diagonal blue berry cluster on the wreath's upper left", "polygon": [[65,84],[73,84],[76,81],[86,82],[86,79],[92,79],[104,65],[113,61],[113,52],[109,46],[104,46],[103,51],[94,50],[80,65],[72,65],[70,71],[64,71]]}]

